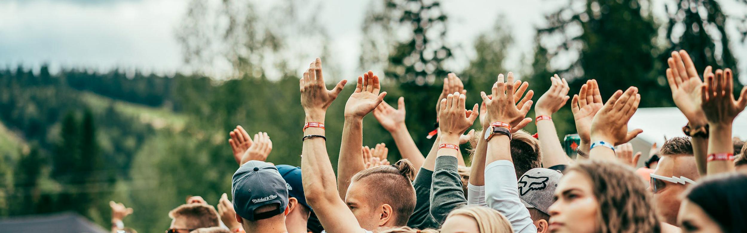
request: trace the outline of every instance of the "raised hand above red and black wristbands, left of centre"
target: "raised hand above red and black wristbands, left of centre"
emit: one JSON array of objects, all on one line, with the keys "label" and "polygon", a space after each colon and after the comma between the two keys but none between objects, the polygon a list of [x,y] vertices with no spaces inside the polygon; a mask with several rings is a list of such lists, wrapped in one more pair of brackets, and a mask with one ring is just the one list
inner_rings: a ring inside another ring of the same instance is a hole
[{"label": "raised hand above red and black wristbands, left of centre", "polygon": [[[360,79],[360,78],[359,78]],[[322,77],[322,60],[317,58],[309,65],[309,70],[303,72],[303,78],[300,79],[301,88],[301,106],[306,111],[306,117],[318,118],[326,113],[326,109],[337,99],[337,96],[345,87],[347,80],[338,82],[332,90],[327,90]],[[357,90],[356,90],[357,92]]]}]

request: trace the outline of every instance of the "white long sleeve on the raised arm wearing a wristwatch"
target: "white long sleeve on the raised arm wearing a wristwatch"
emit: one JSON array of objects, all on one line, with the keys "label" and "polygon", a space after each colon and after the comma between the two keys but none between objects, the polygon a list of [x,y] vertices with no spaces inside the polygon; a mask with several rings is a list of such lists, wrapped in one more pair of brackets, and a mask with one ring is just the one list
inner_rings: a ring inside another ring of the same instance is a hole
[{"label": "white long sleeve on the raised arm wearing a wristwatch", "polygon": [[485,167],[485,201],[490,208],[503,214],[514,232],[537,232],[529,211],[518,198],[516,172],[513,163],[507,160],[494,161]]}]

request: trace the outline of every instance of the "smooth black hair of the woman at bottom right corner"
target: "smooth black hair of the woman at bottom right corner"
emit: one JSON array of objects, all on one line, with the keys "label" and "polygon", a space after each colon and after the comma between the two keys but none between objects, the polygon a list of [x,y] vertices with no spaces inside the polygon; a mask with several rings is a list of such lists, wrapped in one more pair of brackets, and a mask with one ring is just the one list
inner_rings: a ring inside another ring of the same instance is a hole
[{"label": "smooth black hair of the woman at bottom right corner", "polygon": [[747,175],[725,173],[709,175],[690,186],[686,198],[700,206],[722,232],[744,232],[747,229]]}]

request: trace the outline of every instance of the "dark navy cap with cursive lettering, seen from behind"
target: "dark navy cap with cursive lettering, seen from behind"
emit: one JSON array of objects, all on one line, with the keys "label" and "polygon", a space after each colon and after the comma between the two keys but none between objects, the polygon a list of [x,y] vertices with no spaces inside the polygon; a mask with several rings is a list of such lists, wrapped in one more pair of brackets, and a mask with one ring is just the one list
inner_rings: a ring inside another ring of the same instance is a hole
[{"label": "dark navy cap with cursive lettering, seen from behind", "polygon": [[[236,214],[249,221],[263,220],[282,214],[288,208],[288,187],[273,164],[248,161],[236,170],[231,193]],[[273,211],[255,213],[264,205],[277,204]]]}]

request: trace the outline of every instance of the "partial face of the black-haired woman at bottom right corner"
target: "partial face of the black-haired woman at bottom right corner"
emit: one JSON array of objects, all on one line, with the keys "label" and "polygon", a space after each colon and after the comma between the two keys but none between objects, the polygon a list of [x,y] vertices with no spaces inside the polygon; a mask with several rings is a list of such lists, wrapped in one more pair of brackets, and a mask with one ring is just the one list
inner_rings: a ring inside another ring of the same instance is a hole
[{"label": "partial face of the black-haired woman at bottom right corner", "polygon": [[680,214],[678,214],[678,223],[682,232],[686,233],[722,232],[719,223],[716,223],[708,214],[705,214],[703,208],[700,208],[700,206],[689,200],[682,202]]}]

